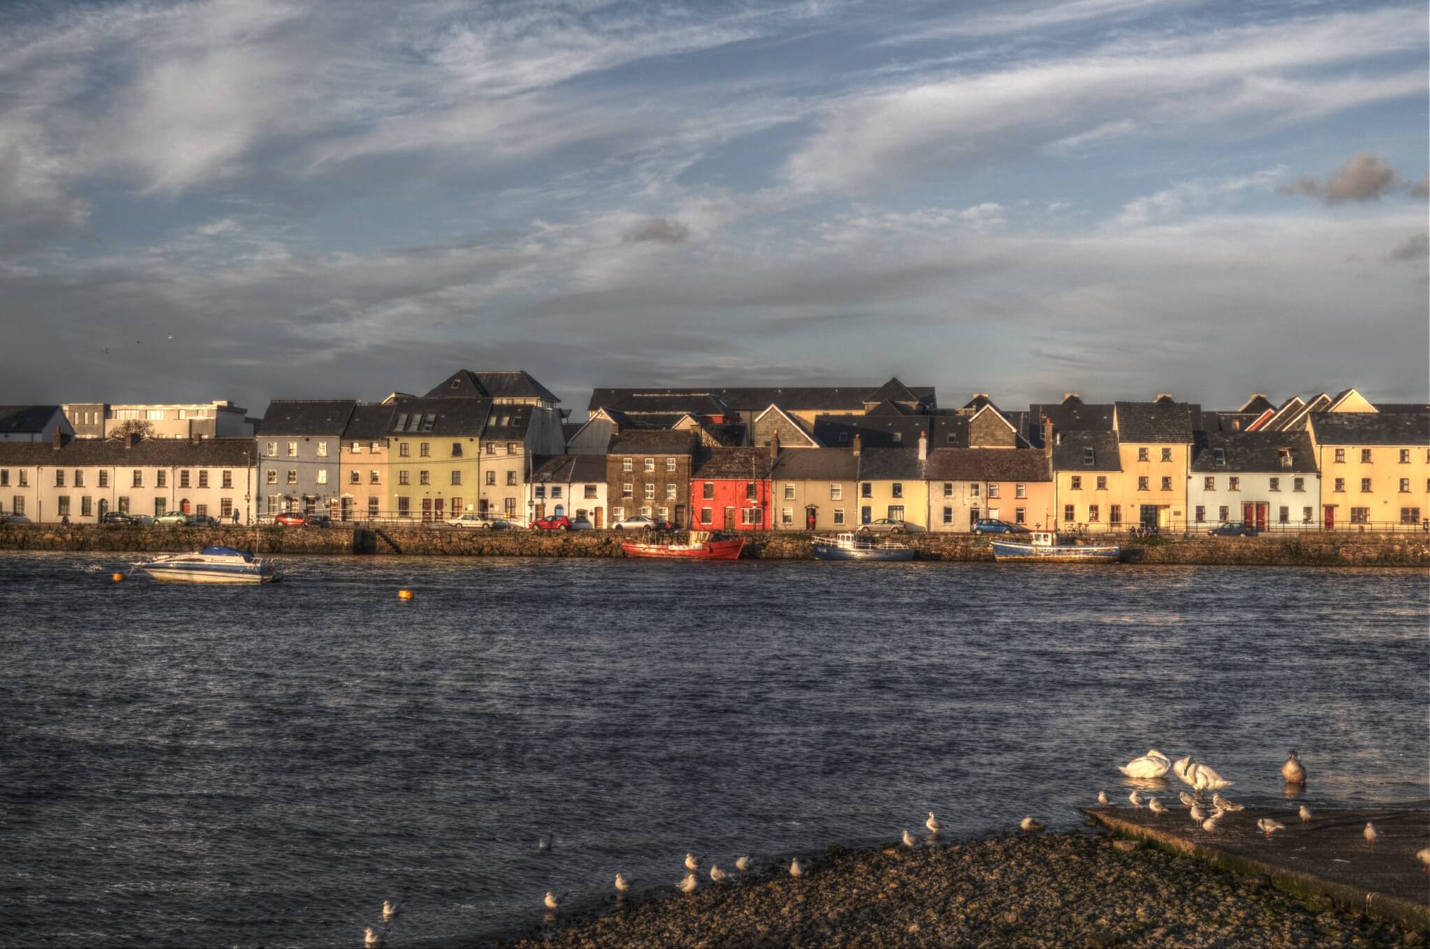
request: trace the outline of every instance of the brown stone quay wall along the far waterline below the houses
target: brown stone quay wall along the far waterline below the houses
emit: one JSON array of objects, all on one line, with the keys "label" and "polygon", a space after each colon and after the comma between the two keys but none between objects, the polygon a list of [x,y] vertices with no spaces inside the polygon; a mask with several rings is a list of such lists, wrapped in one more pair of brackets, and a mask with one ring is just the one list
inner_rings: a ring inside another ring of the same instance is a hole
[{"label": "brown stone quay wall along the far waterline below the houses", "polygon": [[[263,555],[623,557],[616,530],[478,532],[409,526],[160,527],[96,525],[0,525],[0,550],[182,553],[232,546]],[[812,560],[811,535],[739,533],[742,560]],[[915,533],[901,537],[919,560],[994,563],[984,537]],[[256,550],[255,550],[256,547]],[[1147,566],[1430,567],[1430,535],[1310,533],[1258,537],[1124,540],[1123,562]],[[1005,565],[1047,569],[1050,565]],[[1054,565],[1055,566],[1055,565]],[[1110,567],[1104,567],[1110,569]]]}]

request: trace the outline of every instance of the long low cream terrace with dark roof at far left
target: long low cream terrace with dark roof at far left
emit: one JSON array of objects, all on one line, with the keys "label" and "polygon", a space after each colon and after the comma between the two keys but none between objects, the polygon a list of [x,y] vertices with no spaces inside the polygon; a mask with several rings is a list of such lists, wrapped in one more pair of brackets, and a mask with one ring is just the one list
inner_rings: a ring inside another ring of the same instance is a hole
[{"label": "long low cream terrace with dark roof at far left", "polygon": [[33,523],[99,523],[109,512],[252,523],[252,439],[0,442],[0,509]]}]

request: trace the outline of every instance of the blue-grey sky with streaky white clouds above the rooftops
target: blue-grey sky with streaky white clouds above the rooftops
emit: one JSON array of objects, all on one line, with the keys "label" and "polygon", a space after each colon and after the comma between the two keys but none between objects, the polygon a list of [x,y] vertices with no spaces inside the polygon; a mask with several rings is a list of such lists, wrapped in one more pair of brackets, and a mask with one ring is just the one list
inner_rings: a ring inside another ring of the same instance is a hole
[{"label": "blue-grey sky with streaky white clouds above the rooftops", "polygon": [[1427,9],[0,7],[0,403],[1430,399]]}]

